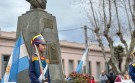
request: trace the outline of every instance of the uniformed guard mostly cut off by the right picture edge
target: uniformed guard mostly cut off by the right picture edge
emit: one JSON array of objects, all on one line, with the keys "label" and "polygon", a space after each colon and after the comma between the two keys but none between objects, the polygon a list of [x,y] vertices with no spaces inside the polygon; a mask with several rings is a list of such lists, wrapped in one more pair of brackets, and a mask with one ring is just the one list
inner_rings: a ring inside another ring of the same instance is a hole
[{"label": "uniformed guard mostly cut off by the right picture edge", "polygon": [[[135,59],[135,51],[131,53],[131,56]],[[129,75],[132,81],[135,83],[135,62],[129,64]]]}]

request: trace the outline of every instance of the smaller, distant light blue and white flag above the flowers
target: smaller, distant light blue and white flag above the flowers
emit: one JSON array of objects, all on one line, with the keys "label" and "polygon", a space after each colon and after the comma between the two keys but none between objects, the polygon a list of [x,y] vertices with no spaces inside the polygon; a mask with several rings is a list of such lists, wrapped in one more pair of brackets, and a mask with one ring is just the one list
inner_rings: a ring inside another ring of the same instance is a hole
[{"label": "smaller, distant light blue and white flag above the flowers", "polygon": [[77,68],[76,68],[76,72],[77,72],[77,73],[82,73],[83,67],[86,66],[86,58],[87,58],[88,50],[89,50],[89,48],[87,47],[87,48],[85,49],[85,52],[83,53],[82,59],[81,59],[81,61],[79,62],[79,65],[78,65]]}]

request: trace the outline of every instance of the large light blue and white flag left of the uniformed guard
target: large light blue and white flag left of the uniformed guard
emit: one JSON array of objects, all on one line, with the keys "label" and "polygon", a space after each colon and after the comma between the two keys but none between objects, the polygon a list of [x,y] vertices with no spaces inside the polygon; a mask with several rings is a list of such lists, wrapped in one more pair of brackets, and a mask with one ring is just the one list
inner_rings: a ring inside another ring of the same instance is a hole
[{"label": "large light blue and white flag left of the uniformed guard", "polygon": [[18,37],[14,50],[9,58],[5,75],[1,83],[16,83],[19,72],[29,68],[29,57],[23,36]]}]

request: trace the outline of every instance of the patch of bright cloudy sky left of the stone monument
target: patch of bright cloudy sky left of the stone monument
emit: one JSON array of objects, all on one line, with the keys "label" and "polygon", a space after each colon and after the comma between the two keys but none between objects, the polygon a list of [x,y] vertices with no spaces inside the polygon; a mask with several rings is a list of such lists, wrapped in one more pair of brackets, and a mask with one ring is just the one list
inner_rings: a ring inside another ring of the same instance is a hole
[{"label": "patch of bright cloudy sky left of the stone monument", "polygon": [[25,13],[28,3],[25,0],[8,0],[0,3],[0,28],[16,31],[18,16]]}]

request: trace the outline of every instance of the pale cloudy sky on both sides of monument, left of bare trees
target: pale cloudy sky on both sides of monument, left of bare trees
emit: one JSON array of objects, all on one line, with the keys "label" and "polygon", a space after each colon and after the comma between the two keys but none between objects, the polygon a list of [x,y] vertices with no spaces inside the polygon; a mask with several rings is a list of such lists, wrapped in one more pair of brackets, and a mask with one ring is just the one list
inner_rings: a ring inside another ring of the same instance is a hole
[{"label": "pale cloudy sky on both sides of monument, left of bare trees", "polygon": [[[29,9],[30,4],[26,0],[2,0],[0,3],[1,30],[16,31],[18,16]],[[77,6],[74,0],[48,0],[46,11],[56,17],[60,40],[84,43],[82,27],[87,21],[81,7]]]}]

